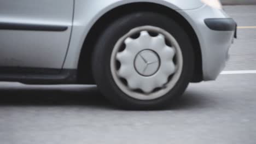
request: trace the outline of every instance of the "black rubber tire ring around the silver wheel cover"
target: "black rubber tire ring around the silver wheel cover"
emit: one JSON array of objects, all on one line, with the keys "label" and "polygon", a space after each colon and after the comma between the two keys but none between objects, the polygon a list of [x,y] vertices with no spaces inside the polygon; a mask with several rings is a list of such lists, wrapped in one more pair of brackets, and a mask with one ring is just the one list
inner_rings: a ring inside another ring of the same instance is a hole
[{"label": "black rubber tire ring around the silver wheel cover", "polygon": [[[138,100],[129,97],[115,84],[110,71],[110,57],[117,41],[132,28],[139,26],[155,26],[165,29],[177,41],[182,49],[183,71],[176,85],[170,92],[154,100]],[[180,97],[193,74],[194,55],[188,34],[179,23],[158,13],[137,12],[127,14],[106,28],[98,38],[92,55],[92,73],[100,91],[115,105],[128,110],[155,110],[170,105],[174,98]]]}]

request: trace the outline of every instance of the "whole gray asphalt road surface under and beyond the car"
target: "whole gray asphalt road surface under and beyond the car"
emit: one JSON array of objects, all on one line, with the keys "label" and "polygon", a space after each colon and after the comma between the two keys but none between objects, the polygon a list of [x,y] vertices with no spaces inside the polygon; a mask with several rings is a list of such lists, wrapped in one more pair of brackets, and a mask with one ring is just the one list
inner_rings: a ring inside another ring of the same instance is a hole
[{"label": "whole gray asphalt road surface under and beyond the car", "polygon": [[[255,6],[228,6],[238,26],[256,26]],[[230,70],[256,70],[256,27],[238,29]],[[256,74],[191,84],[163,111],[115,109],[95,86],[0,83],[0,143],[256,143]]]}]

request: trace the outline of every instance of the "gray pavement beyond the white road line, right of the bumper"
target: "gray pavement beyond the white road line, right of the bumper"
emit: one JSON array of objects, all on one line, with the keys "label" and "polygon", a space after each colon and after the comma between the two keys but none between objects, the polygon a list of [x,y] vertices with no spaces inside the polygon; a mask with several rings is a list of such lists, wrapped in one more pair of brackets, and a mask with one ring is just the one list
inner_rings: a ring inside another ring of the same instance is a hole
[{"label": "gray pavement beyond the white road line, right of the bumper", "polygon": [[[256,26],[256,5],[224,7],[238,26]],[[238,29],[225,70],[256,70],[256,28]]]}]

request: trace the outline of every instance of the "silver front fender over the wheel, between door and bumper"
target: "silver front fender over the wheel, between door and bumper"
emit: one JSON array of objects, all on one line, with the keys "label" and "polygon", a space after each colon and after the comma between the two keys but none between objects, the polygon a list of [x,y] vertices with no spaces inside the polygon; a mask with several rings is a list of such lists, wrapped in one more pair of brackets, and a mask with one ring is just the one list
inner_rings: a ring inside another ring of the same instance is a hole
[{"label": "silver front fender over the wheel, between door and bumper", "polygon": [[80,51],[82,49],[86,35],[89,33],[94,23],[100,19],[101,16],[121,5],[136,2],[161,4],[174,10],[191,10],[200,8],[203,5],[203,3],[199,0],[75,0],[72,39],[63,68],[77,68],[79,61],[78,58],[80,56]]}]

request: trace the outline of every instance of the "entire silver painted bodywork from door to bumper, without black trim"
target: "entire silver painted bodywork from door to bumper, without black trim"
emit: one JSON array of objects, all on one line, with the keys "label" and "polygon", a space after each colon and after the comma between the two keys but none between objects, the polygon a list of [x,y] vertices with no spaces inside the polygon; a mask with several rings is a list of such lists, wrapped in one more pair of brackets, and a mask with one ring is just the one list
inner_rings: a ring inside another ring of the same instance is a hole
[{"label": "entire silver painted bodywork from door to bumper, without black trim", "polygon": [[181,14],[199,39],[203,80],[217,78],[229,57],[234,31],[208,28],[205,19],[229,16],[200,0],[0,0],[0,23],[67,26],[62,32],[0,29],[0,67],[78,69],[82,49],[91,49],[83,44],[97,20],[114,8],[137,2],[164,5]]}]

